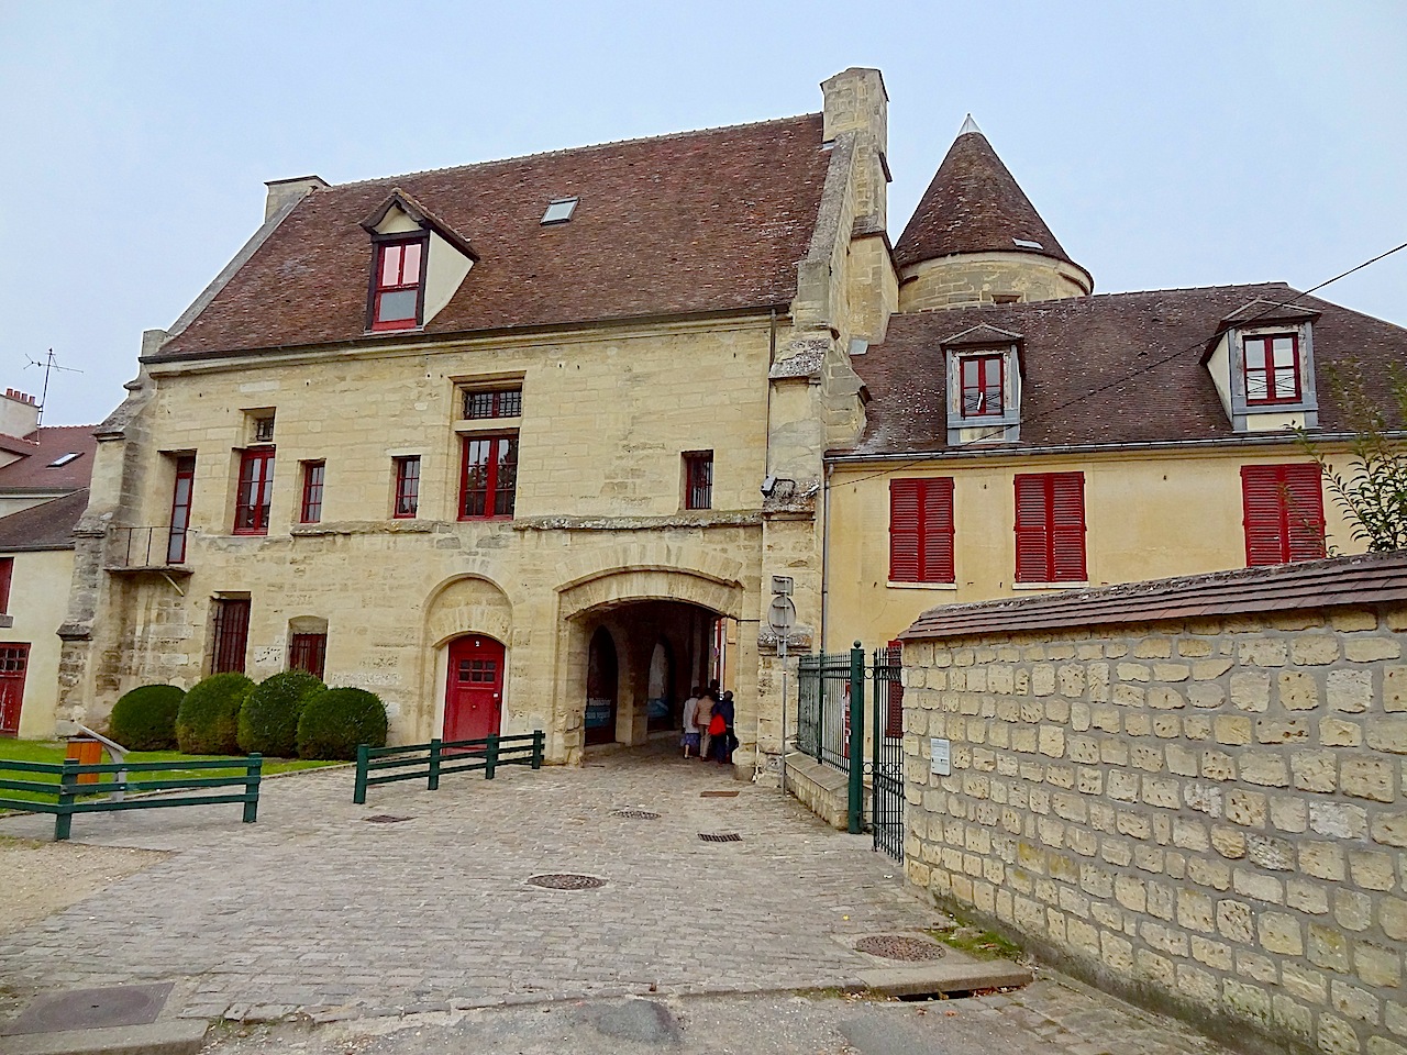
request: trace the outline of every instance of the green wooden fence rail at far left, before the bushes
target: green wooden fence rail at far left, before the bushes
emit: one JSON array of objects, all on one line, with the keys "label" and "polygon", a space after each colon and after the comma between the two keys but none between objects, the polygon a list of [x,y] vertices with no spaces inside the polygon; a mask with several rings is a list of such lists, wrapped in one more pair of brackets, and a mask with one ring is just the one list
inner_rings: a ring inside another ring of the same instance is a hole
[{"label": "green wooden fence rail at far left, before the bushes", "polygon": [[[201,769],[238,769],[243,774],[232,776],[163,776],[160,779],[141,779],[144,772],[173,772],[173,771],[201,771]],[[31,774],[41,776],[58,776],[53,781],[14,779],[6,774]],[[100,779],[93,784],[79,784],[80,775],[93,774]],[[101,776],[111,779],[101,779]],[[53,796],[53,802],[0,798],[0,809],[24,810],[28,813],[52,813],[53,840],[56,843],[69,837],[73,827],[75,813],[111,813],[114,810],[151,810],[167,809],[172,806],[218,806],[221,803],[242,803],[245,807],[245,824],[253,824],[259,816],[259,781],[263,778],[263,755],[252,754],[242,762],[238,760],[219,758],[198,762],[104,762],[100,765],[80,765],[75,761],[66,762],[11,762],[0,761],[0,796],[7,791],[28,792],[31,795]],[[212,788],[243,788],[235,793],[219,795],[153,795],[141,799],[114,798],[91,799],[94,795],[131,795],[141,792],[165,791],[198,791],[207,792]]]}]

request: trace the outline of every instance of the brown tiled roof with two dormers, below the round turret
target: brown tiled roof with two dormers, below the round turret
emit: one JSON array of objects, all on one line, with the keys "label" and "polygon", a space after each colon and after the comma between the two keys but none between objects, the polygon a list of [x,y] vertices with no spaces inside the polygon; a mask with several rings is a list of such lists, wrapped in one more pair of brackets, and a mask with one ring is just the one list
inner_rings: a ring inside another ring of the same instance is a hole
[{"label": "brown tiled roof with two dormers, below the round turret", "polygon": [[[884,343],[855,359],[871,399],[854,453],[948,449],[940,345],[983,324],[1021,335],[1017,450],[1235,437],[1202,366],[1207,342],[1248,301],[1279,304],[1297,295],[1279,283],[1213,286],[893,315]],[[1325,383],[1327,367],[1362,364],[1368,395],[1390,411],[1387,367],[1407,362],[1407,329],[1316,297],[1297,305],[1321,312],[1314,321],[1320,429],[1354,428]],[[1403,426],[1394,412],[1389,423]]]}]

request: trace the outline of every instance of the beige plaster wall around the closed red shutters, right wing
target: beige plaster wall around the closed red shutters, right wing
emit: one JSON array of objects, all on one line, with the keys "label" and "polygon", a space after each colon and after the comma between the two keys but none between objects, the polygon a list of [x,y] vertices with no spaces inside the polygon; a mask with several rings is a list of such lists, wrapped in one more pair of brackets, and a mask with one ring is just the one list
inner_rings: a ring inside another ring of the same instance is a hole
[{"label": "beige plaster wall around the closed red shutters, right wing", "polygon": [[[1085,474],[1089,585],[1245,567],[1241,466],[1307,461],[1294,445],[837,466],[830,488],[826,650],[888,641],[934,605],[1033,592],[1013,584],[1017,473]],[[957,582],[889,584],[889,480],[953,477]],[[1328,544],[1362,553],[1331,497]],[[1036,591],[1040,592],[1040,591]]]}]

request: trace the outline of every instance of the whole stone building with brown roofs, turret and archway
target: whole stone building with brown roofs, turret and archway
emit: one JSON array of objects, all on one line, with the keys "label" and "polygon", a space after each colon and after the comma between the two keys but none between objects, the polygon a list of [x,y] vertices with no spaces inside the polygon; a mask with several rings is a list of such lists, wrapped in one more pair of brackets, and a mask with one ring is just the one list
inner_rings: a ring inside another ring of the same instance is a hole
[{"label": "whole stone building with brown roofs, turret and archway", "polygon": [[[795,654],[950,596],[1237,565],[1225,480],[1304,461],[1273,426],[1342,425],[1316,357],[1407,347],[1280,286],[1093,295],[971,122],[891,246],[882,79],[822,89],[805,117],[270,183],[97,430],[61,716],[295,665],[378,692],[400,740],[543,727],[575,762],[673,724],[729,640],[734,760],[765,771],[774,588]],[[1088,573],[1013,581],[1017,471],[1090,474],[1107,519],[1057,525]]]}]

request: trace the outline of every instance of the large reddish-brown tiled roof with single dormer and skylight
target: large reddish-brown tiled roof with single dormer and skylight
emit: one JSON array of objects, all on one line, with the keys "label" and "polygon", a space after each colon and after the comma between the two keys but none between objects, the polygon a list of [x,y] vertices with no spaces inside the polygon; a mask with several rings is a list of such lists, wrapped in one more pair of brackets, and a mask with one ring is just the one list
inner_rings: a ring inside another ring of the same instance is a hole
[{"label": "large reddish-brown tiled roof with single dormer and skylight", "polygon": [[362,339],[393,188],[480,256],[428,333],[788,304],[829,158],[810,114],[315,190],[160,354]]}]

